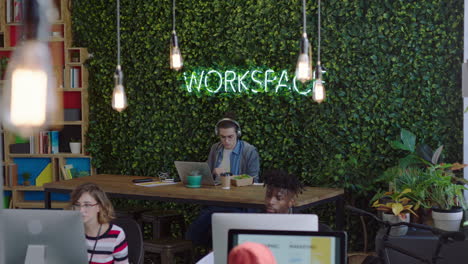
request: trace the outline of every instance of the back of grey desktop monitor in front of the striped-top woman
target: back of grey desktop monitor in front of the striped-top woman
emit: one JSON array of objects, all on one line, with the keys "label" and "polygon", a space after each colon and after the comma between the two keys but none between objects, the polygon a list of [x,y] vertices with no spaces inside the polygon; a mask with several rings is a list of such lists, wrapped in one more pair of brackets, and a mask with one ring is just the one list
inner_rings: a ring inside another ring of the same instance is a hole
[{"label": "back of grey desktop monitor in front of the striped-top woman", "polygon": [[4,209],[1,217],[5,263],[25,263],[29,245],[45,246],[47,264],[88,263],[80,212]]}]

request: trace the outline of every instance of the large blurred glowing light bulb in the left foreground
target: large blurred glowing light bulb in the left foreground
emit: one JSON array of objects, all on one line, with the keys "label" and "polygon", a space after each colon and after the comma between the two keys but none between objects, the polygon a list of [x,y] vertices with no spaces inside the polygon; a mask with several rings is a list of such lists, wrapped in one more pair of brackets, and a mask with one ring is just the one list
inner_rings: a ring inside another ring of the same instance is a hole
[{"label": "large blurred glowing light bulb in the left foreground", "polygon": [[3,124],[23,137],[63,118],[47,44],[49,23],[56,14],[51,9],[47,1],[24,1],[25,41],[13,53],[5,76]]}]

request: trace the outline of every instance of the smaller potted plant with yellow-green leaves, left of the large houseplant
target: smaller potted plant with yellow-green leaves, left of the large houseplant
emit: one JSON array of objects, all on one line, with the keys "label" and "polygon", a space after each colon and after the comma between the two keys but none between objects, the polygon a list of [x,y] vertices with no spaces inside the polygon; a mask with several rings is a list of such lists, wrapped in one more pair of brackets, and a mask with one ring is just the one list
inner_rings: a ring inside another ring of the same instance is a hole
[{"label": "smaller potted plant with yellow-green leaves, left of the large houseplant", "polygon": [[[381,211],[382,219],[392,224],[399,222],[409,222],[410,213],[417,216],[413,211],[413,204],[407,194],[411,189],[404,189],[401,192],[379,192],[371,200],[372,207]],[[416,208],[417,209],[417,208]],[[407,226],[395,226],[390,230],[392,236],[404,236],[408,231]]]}]

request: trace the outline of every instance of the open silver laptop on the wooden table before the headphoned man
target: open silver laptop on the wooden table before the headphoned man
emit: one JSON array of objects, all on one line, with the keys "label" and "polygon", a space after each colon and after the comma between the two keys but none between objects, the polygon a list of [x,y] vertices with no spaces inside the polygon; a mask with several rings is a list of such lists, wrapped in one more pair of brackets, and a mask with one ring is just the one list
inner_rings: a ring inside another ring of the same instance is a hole
[{"label": "open silver laptop on the wooden table before the headphoned man", "polygon": [[192,172],[197,171],[202,176],[202,185],[219,185],[219,181],[213,179],[211,174],[210,166],[206,162],[194,162],[194,161],[174,161],[174,164],[179,174],[180,180],[184,184],[188,184],[187,176],[191,175]]}]

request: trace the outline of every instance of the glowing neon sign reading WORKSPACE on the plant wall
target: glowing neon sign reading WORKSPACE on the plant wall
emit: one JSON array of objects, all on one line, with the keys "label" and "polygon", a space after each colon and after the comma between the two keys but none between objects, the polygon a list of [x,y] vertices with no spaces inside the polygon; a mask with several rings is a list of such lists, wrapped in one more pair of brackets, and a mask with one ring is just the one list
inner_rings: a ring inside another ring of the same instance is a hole
[{"label": "glowing neon sign reading WORKSPACE on the plant wall", "polygon": [[217,71],[214,69],[184,72],[184,89],[189,93],[272,93],[281,94],[295,92],[309,95],[314,81],[303,85],[297,82],[296,76],[289,75],[286,70],[275,72],[267,70],[247,71]]}]

